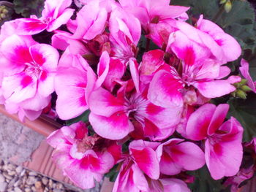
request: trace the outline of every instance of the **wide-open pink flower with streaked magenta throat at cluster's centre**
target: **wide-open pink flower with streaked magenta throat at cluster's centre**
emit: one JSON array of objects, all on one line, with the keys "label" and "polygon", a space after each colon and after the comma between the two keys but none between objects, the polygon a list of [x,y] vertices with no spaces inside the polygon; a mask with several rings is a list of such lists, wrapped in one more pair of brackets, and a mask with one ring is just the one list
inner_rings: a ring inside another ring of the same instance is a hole
[{"label": "wide-open pink flower with streaked magenta throat at cluster's centre", "polygon": [[[148,137],[152,140],[165,139],[173,134],[174,126],[179,122],[182,107],[159,107],[148,101],[147,87],[140,84],[138,64],[130,60],[133,88],[128,90],[127,83],[113,96],[99,87],[89,96],[89,121],[101,137],[122,139],[135,130],[136,138]],[[102,76],[99,80],[102,82]],[[141,86],[140,86],[141,85]],[[127,90],[126,90],[127,88]],[[170,118],[172,117],[172,118]]]}]

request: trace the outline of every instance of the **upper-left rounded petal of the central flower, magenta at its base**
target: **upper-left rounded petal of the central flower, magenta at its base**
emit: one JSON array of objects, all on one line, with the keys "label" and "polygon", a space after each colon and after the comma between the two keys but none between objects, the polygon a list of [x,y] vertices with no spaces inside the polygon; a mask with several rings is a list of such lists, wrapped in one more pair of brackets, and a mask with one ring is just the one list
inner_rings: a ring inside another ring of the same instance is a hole
[{"label": "upper-left rounded petal of the central flower, magenta at its base", "polygon": [[110,117],[115,112],[125,109],[124,99],[116,98],[104,88],[97,88],[97,90],[92,91],[88,104],[91,112],[105,117]]}]

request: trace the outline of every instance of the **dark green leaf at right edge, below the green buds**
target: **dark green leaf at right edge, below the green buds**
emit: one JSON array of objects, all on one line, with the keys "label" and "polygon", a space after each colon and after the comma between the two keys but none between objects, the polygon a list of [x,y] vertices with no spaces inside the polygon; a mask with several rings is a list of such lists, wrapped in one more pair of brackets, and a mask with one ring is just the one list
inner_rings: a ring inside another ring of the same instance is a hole
[{"label": "dark green leaf at right edge, below the green buds", "polygon": [[256,136],[256,94],[249,93],[247,99],[230,99],[228,117],[233,116],[244,128],[244,142],[250,142]]}]

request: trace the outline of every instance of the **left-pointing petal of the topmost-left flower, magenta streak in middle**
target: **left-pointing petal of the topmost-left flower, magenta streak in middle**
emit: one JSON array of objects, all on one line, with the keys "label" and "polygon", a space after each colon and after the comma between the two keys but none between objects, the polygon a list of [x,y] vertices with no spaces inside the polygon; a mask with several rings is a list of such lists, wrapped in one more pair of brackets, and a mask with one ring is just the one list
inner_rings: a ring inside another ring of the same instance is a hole
[{"label": "left-pointing petal of the topmost-left flower, magenta streak in middle", "polygon": [[21,18],[15,20],[17,23],[17,34],[19,35],[33,35],[39,34],[47,28],[48,24],[38,19]]}]

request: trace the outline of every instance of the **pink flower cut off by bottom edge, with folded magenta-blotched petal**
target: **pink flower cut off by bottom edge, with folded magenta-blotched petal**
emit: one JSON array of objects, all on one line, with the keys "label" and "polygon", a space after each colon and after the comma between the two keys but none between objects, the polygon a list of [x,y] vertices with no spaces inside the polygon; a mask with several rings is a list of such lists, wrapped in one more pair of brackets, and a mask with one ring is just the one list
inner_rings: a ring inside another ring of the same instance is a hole
[{"label": "pink flower cut off by bottom edge, with folded magenta-blotched petal", "polygon": [[129,155],[122,163],[113,192],[149,190],[146,178],[149,177],[152,180],[159,178],[159,160],[155,152],[158,145],[157,142],[143,140],[136,140],[129,144]]}]

